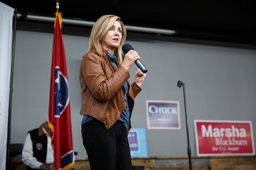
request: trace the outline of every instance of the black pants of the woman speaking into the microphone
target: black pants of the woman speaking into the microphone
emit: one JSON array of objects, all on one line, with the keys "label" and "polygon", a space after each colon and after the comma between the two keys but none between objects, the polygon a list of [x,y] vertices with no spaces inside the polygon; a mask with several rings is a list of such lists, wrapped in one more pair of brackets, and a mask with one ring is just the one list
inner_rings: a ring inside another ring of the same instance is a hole
[{"label": "black pants of the woman speaking into the microphone", "polygon": [[91,170],[132,170],[127,129],[120,121],[106,129],[97,119],[82,124],[82,138]]}]

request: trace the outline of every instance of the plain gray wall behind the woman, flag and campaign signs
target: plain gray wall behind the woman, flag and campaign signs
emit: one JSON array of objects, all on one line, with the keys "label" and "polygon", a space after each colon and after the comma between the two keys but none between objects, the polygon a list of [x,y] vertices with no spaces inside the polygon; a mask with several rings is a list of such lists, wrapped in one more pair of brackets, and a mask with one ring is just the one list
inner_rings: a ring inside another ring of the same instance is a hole
[{"label": "plain gray wall behind the woman, flag and campaign signs", "polygon": [[[64,35],[73,147],[86,158],[79,115],[79,67],[88,37]],[[17,31],[13,79],[11,143],[23,143],[28,130],[48,115],[52,33]],[[148,156],[186,156],[187,134],[182,87],[186,84],[192,156],[196,155],[195,119],[251,120],[256,131],[256,50],[166,41],[129,41],[148,69],[143,90],[135,99],[133,128],[145,128]],[[134,64],[130,81],[134,81]],[[180,101],[181,129],[147,129],[146,100]],[[254,143],[256,137],[254,135]]]}]

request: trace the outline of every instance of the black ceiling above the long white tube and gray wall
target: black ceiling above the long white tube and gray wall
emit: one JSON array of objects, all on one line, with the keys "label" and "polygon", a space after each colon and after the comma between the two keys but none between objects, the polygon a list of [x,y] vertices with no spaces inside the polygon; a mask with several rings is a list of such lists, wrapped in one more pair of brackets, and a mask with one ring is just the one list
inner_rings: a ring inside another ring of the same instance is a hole
[{"label": "black ceiling above the long white tube and gray wall", "polygon": [[[1,0],[21,14],[53,16],[56,1]],[[96,21],[105,14],[124,25],[172,29],[172,37],[256,45],[255,0],[60,0],[63,18]]]}]

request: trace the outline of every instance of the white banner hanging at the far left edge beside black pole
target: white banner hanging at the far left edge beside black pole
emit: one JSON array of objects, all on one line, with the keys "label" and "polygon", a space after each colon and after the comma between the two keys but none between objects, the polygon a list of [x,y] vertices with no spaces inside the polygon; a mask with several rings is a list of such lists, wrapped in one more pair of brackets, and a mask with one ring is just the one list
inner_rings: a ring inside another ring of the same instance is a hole
[{"label": "white banner hanging at the far left edge beside black pole", "polygon": [[0,169],[5,169],[14,9],[0,2]]}]

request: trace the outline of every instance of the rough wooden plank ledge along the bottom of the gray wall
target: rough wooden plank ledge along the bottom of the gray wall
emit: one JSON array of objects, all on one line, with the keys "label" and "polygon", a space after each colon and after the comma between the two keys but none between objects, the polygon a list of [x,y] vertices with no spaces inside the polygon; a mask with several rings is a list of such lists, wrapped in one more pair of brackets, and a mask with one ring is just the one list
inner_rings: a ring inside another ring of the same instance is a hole
[{"label": "rough wooden plank ledge along the bottom of the gray wall", "polygon": [[[181,159],[186,157],[150,157],[150,158],[132,158],[133,166],[144,166],[144,170],[188,170],[188,166],[170,167],[170,166],[159,166],[156,167],[157,161],[169,161],[172,160],[176,163],[180,162]],[[196,162],[202,162],[209,159],[209,165],[193,165]],[[175,161],[176,160],[176,161]],[[195,161],[196,160],[196,161]],[[187,162],[187,159],[186,159]],[[256,156],[226,156],[226,157],[195,157],[192,158],[193,170],[256,170]],[[200,166],[200,167],[199,167]],[[209,167],[208,167],[209,166]],[[90,170],[88,159],[79,159],[75,161],[76,170]],[[10,170],[26,170],[26,166],[21,160],[11,161]]]}]

